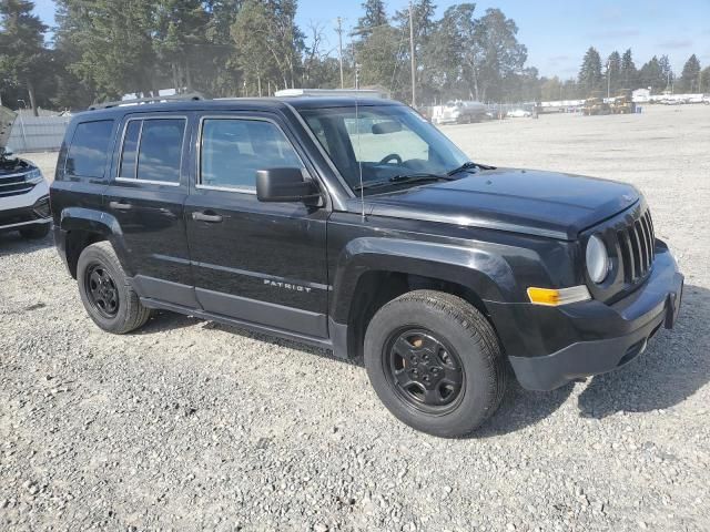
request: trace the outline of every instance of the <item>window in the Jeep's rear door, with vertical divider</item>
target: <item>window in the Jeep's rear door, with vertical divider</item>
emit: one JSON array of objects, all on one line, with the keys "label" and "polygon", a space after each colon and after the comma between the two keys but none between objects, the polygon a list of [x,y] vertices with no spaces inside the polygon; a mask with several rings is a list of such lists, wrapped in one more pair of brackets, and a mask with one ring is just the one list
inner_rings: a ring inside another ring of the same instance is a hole
[{"label": "window in the Jeep's rear door, with vertical divider", "polygon": [[185,119],[131,120],[125,126],[119,177],[180,183]]}]

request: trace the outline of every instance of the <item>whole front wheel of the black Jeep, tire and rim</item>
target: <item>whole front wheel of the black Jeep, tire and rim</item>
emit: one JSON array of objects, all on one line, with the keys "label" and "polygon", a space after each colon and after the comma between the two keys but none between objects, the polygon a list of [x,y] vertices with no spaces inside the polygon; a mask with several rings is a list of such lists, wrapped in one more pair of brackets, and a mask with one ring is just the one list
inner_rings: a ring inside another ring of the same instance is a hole
[{"label": "whole front wheel of the black Jeep, tire and rim", "polygon": [[[507,381],[488,320],[464,299],[434,290],[407,293],[375,314],[365,334],[365,367],[396,418],[444,438],[470,434],[493,416]],[[419,380],[403,386],[415,372]]]}]

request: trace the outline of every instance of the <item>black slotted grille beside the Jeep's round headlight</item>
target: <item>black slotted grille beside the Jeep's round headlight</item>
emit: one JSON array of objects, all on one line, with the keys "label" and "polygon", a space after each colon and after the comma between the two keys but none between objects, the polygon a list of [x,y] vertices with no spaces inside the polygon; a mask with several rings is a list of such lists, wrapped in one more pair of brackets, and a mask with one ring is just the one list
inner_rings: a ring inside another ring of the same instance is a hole
[{"label": "black slotted grille beside the Jeep's round headlight", "polygon": [[617,231],[625,283],[635,283],[651,269],[653,264],[655,242],[653,222],[650,211],[635,219],[626,227]]}]

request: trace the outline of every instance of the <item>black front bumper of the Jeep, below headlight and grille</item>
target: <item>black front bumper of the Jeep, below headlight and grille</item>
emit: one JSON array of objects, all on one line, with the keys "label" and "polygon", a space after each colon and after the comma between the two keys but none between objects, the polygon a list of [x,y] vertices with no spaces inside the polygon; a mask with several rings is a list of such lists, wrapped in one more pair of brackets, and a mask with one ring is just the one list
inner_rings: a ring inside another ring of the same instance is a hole
[{"label": "black front bumper of the Jeep, below headlight and grille", "polygon": [[525,305],[526,311],[518,313],[528,315],[523,330],[537,326],[541,336],[549,331],[552,344],[566,338],[566,345],[549,354],[509,356],[518,381],[530,390],[552,390],[625,366],[643,352],[661,326],[673,327],[682,289],[676,260],[659,245],[649,278],[613,305],[594,300],[551,309]]}]

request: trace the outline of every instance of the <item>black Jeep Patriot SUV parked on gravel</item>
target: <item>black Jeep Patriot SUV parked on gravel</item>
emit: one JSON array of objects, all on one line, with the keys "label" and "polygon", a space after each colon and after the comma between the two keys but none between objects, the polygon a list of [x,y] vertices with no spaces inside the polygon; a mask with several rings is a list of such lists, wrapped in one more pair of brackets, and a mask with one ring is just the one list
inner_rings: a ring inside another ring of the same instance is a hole
[{"label": "black Jeep Patriot SUV parked on gravel", "polygon": [[168,309],[364,355],[383,402],[438,436],[529,389],[618,368],[683,277],[632,186],[470,162],[409,108],[293,98],[77,115],[57,247],[102,329]]}]

